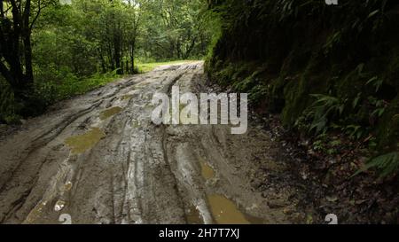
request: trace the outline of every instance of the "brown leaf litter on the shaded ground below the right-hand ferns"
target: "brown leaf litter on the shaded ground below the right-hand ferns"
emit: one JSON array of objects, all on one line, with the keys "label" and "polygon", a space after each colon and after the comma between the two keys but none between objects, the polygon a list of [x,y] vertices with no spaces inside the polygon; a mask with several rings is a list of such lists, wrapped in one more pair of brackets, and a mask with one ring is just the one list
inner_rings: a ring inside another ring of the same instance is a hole
[{"label": "brown leaf litter on the shaded ground below the right-hand ferns", "polygon": [[[338,216],[339,223],[398,223],[399,222],[399,179],[397,176],[383,180],[368,171],[353,176],[364,167],[367,149],[362,142],[349,141],[341,134],[334,139],[341,143],[333,154],[321,150],[319,144],[308,137],[301,137],[292,130],[284,129],[278,115],[258,118],[269,129],[282,147],[280,152],[289,160],[292,185],[300,202],[298,210],[304,211],[302,221],[323,223],[325,215]],[[268,191],[268,183],[280,179],[269,177],[263,183],[255,184]]]}]

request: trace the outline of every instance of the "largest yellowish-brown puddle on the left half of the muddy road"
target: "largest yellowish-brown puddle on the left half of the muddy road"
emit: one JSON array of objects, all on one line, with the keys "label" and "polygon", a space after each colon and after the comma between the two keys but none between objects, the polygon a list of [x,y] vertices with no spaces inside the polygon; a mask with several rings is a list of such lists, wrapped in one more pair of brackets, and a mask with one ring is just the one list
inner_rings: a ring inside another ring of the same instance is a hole
[{"label": "largest yellowish-brown puddle on the left half of the muddy road", "polygon": [[71,148],[72,153],[77,154],[89,150],[103,137],[106,137],[106,134],[101,129],[93,128],[80,136],[66,138],[65,144]]}]

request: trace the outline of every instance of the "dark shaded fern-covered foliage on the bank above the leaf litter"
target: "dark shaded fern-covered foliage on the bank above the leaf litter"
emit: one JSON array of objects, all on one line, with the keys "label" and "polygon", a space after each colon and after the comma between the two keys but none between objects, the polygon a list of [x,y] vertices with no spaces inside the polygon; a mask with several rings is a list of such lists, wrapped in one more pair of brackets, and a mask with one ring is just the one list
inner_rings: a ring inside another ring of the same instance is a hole
[{"label": "dark shaded fern-covered foliage on the bank above the leaf litter", "polygon": [[[223,23],[207,59],[213,80],[249,92],[288,127],[398,151],[397,1],[213,0],[209,8]],[[397,156],[384,164],[392,162]]]}]

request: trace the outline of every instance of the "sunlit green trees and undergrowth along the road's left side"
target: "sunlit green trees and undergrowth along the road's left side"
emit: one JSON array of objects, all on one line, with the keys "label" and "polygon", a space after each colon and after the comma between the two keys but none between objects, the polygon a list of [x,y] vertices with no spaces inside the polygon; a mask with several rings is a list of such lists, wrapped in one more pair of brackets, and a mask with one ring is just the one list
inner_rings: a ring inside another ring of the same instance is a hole
[{"label": "sunlit green trees and undergrowth along the road's left side", "polygon": [[0,6],[0,122],[136,74],[137,62],[200,59],[210,36],[201,0],[2,0]]}]

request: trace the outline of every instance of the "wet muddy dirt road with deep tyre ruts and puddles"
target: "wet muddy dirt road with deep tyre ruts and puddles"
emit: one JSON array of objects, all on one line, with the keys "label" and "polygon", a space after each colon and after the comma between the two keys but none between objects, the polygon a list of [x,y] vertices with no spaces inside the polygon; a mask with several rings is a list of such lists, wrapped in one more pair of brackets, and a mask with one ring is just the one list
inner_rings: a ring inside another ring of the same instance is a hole
[{"label": "wet muddy dirt road with deep tyre ruts and puddles", "polygon": [[[156,126],[155,92],[199,92],[203,63],[161,66],[54,105],[0,138],[0,222],[283,223],[292,189],[265,196],[256,171],[284,170],[249,122]],[[270,200],[273,197],[274,200]]]}]

